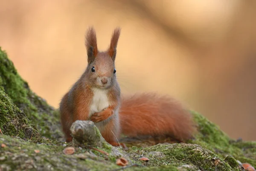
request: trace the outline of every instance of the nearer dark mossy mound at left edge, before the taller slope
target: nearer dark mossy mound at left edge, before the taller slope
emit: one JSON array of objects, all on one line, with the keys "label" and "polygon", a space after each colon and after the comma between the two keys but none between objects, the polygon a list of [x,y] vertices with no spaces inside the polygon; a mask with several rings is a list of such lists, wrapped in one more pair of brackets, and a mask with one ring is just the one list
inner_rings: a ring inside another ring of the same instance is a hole
[{"label": "nearer dark mossy mound at left edge, before the taller slope", "polygon": [[38,139],[38,131],[29,124],[26,115],[13,103],[0,86],[0,128],[10,136]]}]

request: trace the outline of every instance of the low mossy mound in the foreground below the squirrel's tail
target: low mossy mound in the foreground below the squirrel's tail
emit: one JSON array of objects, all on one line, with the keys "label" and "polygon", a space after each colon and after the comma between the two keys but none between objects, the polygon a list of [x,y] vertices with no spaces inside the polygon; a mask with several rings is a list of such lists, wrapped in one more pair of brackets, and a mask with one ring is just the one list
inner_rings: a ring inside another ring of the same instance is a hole
[{"label": "low mossy mound in the foreground below the squirrel's tail", "polygon": [[[215,171],[238,171],[231,168],[228,162],[199,145],[194,144],[158,144],[148,148],[131,148],[128,151],[131,157],[139,159],[142,155],[150,159],[149,162],[142,162],[147,166],[173,165],[183,167],[191,171],[207,170]],[[156,154],[157,153],[157,154]]]}]

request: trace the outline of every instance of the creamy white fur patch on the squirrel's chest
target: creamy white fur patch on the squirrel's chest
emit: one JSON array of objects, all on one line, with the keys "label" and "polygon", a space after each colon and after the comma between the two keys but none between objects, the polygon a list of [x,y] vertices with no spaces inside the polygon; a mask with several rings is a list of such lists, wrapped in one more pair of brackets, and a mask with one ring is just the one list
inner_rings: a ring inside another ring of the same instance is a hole
[{"label": "creamy white fur patch on the squirrel's chest", "polygon": [[93,100],[90,105],[90,116],[109,106],[108,90],[93,88]]}]

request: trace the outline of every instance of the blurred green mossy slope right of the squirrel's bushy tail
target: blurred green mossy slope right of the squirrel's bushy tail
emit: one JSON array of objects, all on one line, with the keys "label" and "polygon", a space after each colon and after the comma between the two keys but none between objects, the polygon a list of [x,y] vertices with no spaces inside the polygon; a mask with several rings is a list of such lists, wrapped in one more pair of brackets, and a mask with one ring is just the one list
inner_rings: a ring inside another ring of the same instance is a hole
[{"label": "blurred green mossy slope right of the squirrel's bushy tail", "polygon": [[256,142],[243,142],[230,139],[217,125],[207,120],[201,114],[192,111],[198,123],[198,133],[189,143],[201,145],[218,154],[223,159],[233,156],[241,162],[256,165]]}]

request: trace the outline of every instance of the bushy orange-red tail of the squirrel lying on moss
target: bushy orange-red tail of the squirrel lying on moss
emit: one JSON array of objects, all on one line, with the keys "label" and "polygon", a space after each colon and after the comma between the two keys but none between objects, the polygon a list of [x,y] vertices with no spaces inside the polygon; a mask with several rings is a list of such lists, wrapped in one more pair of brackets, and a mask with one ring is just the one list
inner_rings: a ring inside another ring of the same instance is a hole
[{"label": "bushy orange-red tail of the squirrel lying on moss", "polygon": [[136,94],[122,99],[119,112],[122,133],[126,136],[172,136],[184,142],[195,131],[191,114],[169,96]]}]

